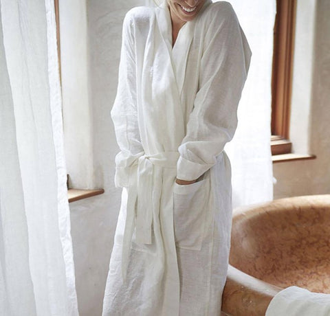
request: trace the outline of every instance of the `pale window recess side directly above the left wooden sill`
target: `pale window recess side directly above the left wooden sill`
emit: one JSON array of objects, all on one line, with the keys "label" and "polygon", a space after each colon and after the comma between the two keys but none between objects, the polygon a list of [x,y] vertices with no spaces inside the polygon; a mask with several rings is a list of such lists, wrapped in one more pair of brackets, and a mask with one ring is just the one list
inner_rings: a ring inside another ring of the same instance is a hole
[{"label": "pale window recess side directly above the left wooden sill", "polygon": [[93,121],[85,1],[59,0],[63,126],[67,172],[75,188],[93,188]]}]

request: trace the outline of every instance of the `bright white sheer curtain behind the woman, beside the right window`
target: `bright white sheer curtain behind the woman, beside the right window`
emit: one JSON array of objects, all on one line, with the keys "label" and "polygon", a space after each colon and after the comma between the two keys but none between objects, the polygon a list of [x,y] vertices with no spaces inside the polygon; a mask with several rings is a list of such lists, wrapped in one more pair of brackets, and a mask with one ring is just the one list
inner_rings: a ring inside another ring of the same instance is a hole
[{"label": "bright white sheer curtain behind the woman, beside the right window", "polygon": [[271,78],[276,0],[229,0],[252,50],[239,125],[225,150],[232,163],[233,207],[273,199]]}]

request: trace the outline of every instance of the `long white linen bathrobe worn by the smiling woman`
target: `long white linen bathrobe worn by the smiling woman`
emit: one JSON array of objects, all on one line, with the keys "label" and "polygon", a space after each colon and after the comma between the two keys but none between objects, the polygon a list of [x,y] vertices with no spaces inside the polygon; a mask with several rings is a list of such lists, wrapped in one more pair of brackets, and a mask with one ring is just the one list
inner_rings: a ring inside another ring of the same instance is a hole
[{"label": "long white linen bathrobe worn by the smiling woman", "polygon": [[165,1],[126,14],[111,111],[122,205],[103,315],[219,315],[232,221],[223,147],[250,56],[227,2],[207,0],[174,47]]}]

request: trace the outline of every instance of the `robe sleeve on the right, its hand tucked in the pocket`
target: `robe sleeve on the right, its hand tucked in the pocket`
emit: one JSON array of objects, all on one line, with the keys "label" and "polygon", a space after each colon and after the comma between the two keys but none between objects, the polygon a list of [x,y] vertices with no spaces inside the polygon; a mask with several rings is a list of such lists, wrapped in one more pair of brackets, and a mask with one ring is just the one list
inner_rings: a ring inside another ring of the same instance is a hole
[{"label": "robe sleeve on the right, its hand tucked in the pocket", "polygon": [[206,34],[199,91],[190,113],[186,137],[179,146],[177,178],[195,180],[216,163],[234,136],[251,52],[230,3],[214,3],[205,16]]}]

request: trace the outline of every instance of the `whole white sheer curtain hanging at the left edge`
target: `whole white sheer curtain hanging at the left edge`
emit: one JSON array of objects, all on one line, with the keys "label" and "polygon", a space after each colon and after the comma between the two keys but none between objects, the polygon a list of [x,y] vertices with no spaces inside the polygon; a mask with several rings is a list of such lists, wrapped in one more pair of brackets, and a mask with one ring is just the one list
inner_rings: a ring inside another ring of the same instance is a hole
[{"label": "whole white sheer curtain hanging at the left edge", "polygon": [[0,5],[0,315],[78,315],[54,2]]}]

